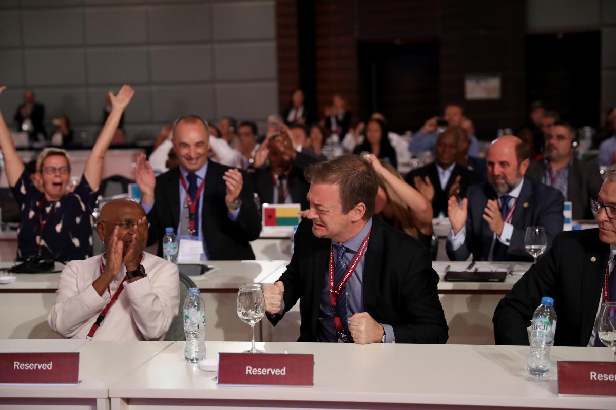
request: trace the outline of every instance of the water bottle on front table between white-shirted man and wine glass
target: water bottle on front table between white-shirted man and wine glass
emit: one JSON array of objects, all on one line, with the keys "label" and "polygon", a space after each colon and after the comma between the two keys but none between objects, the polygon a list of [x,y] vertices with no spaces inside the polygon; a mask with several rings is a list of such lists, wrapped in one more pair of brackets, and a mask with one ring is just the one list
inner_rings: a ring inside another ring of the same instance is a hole
[{"label": "water bottle on front table between white-shirted man and wine glass", "polygon": [[184,333],[186,347],[184,358],[188,363],[205,360],[205,303],[199,288],[190,288],[184,301]]}]

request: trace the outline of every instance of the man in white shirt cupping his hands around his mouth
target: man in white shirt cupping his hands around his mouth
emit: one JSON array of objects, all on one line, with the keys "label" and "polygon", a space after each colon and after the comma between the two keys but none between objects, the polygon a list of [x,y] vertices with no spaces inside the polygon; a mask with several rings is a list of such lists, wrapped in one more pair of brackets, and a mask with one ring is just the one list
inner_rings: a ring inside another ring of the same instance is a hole
[{"label": "man in white shirt cupping his hands around his mouth", "polygon": [[[162,339],[179,307],[177,266],[144,252],[148,220],[143,208],[132,199],[108,202],[96,230],[105,253],[68,262],[47,323],[67,339]],[[116,291],[117,302],[99,323]]]}]

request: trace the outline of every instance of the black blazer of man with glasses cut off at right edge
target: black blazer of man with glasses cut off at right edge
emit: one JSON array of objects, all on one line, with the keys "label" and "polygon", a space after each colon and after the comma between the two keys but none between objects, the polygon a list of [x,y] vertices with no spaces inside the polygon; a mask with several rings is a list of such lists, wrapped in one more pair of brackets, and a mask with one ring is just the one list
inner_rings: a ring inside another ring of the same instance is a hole
[{"label": "black blazer of man with glasses cut off at right edge", "polygon": [[528,345],[526,328],[543,296],[554,299],[558,317],[554,344],[586,346],[601,301],[610,247],[599,229],[562,232],[494,311],[496,344]]}]

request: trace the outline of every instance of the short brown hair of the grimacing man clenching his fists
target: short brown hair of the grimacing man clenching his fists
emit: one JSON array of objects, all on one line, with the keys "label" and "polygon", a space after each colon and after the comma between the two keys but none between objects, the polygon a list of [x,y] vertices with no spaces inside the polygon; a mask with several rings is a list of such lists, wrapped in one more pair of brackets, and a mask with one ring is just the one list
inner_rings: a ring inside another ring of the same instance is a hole
[{"label": "short brown hair of the grimacing man clenching his fists", "polygon": [[306,169],[305,176],[309,183],[338,186],[342,212],[349,213],[355,205],[363,202],[366,205],[363,219],[375,213],[379,179],[372,166],[359,155],[346,154],[312,164]]}]

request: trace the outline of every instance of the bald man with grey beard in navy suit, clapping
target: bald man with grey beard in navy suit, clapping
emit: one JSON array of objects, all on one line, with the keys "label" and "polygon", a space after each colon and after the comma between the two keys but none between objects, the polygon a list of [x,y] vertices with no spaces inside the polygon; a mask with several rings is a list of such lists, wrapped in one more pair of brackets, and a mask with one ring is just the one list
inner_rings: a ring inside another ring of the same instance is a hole
[{"label": "bald man with grey beard in navy suit, clapping", "polygon": [[524,248],[528,226],[543,226],[548,248],[562,231],[562,194],[525,178],[529,152],[517,136],[503,136],[488,148],[488,182],[469,187],[461,206],[448,202],[452,231],[447,256],[464,261],[531,261]]}]

